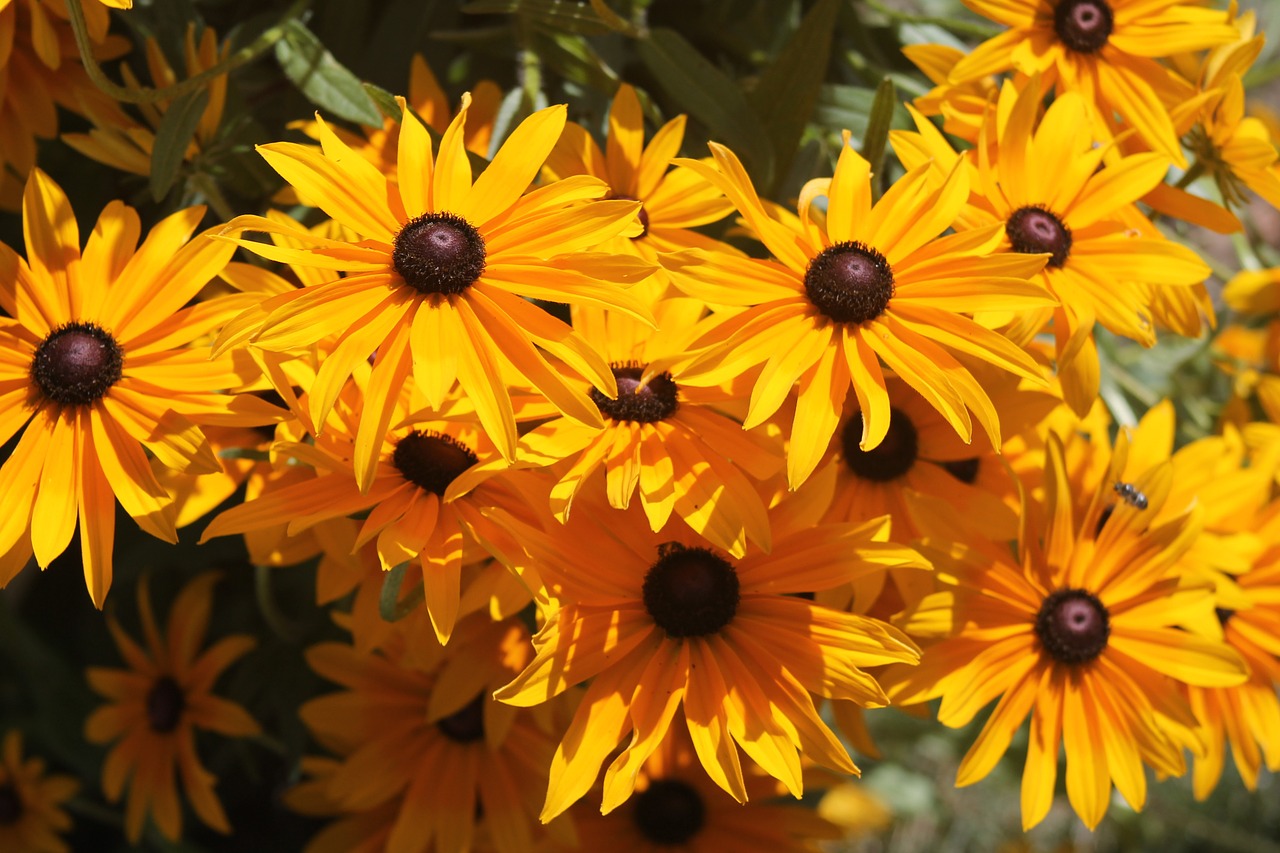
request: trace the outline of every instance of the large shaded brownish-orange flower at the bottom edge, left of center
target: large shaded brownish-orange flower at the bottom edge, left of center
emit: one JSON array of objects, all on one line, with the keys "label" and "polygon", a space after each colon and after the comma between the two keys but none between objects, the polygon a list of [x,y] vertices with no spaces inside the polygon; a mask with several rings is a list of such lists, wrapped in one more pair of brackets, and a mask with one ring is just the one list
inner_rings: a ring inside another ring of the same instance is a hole
[{"label": "large shaded brownish-orange flower at the bottom edge, left of center", "polygon": [[343,688],[300,711],[338,757],[308,811],[384,820],[388,850],[466,853],[479,834],[498,853],[529,850],[540,799],[530,783],[550,765],[552,715],[489,695],[531,657],[529,633],[481,613],[445,648],[421,616],[372,654],[343,643],[307,651],[311,667]]}]

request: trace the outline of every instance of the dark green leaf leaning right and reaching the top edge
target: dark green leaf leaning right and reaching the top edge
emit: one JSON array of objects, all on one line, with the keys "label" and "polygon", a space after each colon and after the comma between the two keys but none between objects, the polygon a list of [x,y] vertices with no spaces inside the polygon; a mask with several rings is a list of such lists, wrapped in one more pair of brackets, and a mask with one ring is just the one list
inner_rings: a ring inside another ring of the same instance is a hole
[{"label": "dark green leaf leaning right and reaching the top edge", "polygon": [[773,145],[776,173],[785,175],[813,115],[827,76],[840,0],[819,0],[782,51],[765,65],[750,95]]}]

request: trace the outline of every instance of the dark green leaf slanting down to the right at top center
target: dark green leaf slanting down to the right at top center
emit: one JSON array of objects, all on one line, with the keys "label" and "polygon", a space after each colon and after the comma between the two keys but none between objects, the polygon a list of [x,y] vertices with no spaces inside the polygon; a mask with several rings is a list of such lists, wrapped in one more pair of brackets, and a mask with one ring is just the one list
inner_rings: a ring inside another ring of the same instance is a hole
[{"label": "dark green leaf slanting down to the right at top center", "polygon": [[640,40],[639,51],[667,95],[701,122],[713,140],[731,147],[756,184],[771,186],[773,149],[737,83],[675,29],[653,29]]}]

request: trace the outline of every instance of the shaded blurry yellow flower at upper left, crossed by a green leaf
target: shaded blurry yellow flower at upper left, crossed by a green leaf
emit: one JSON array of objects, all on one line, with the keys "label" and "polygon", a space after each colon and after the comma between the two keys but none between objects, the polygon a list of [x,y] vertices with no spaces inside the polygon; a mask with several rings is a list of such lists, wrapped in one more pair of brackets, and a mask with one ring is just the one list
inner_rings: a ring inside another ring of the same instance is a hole
[{"label": "shaded blurry yellow flower at upper left, crossed by a green leaf", "polygon": [[[151,72],[151,82],[157,86],[172,86],[178,82],[178,76],[169,65],[164,53],[155,38],[147,38],[147,68]],[[205,28],[196,41],[196,24],[187,26],[184,42],[184,59],[187,77],[193,77],[216,65],[230,53],[230,44],[223,42],[218,46],[218,35],[211,28]],[[137,87],[138,81],[128,65],[123,65],[120,73],[124,82]],[[192,163],[207,151],[209,145],[218,133],[223,120],[223,108],[227,102],[227,76],[220,74],[209,81],[206,86],[209,104],[196,126],[195,138],[187,145],[183,160]],[[156,101],[154,104],[141,104],[145,123],[136,120],[119,122],[110,115],[96,114],[92,108],[86,108],[88,117],[93,120],[93,129],[88,133],[64,133],[63,141],[84,156],[105,163],[106,165],[131,172],[133,174],[151,174],[151,152],[155,147],[156,129],[172,106],[172,101]]]}]

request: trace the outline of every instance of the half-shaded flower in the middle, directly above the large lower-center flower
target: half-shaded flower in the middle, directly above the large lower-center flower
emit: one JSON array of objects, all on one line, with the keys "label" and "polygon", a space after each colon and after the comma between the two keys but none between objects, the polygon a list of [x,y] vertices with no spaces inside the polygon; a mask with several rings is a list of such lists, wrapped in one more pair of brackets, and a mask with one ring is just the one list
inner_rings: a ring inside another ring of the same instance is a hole
[{"label": "half-shaded flower in the middle, directly above the large lower-center flower", "polygon": [[[782,448],[717,410],[732,396],[722,388],[681,387],[681,370],[649,377],[650,364],[684,352],[703,304],[668,297],[654,309],[659,330],[631,316],[594,307],[573,310],[573,328],[609,359],[618,396],[591,389],[602,428],[570,418],[540,424],[520,439],[525,465],[561,464],[552,512],[563,521],[582,489],[625,510],[639,494],[649,524],[660,530],[675,512],[712,544],[742,556],[750,539],[769,547],[769,520],[751,478],[782,467]],[[603,476],[602,476],[603,473]]]}]

